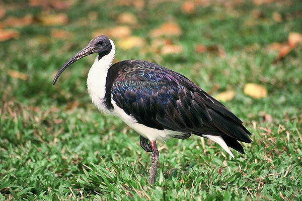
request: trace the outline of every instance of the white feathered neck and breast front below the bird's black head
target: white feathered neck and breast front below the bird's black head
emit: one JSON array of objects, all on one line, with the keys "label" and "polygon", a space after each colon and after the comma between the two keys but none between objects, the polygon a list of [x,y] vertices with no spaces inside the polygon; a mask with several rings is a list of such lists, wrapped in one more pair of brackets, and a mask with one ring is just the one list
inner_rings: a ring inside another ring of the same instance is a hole
[{"label": "white feathered neck and breast front below the bird's black head", "polygon": [[104,104],[106,77],[115,54],[114,43],[112,40],[110,42],[112,46],[110,53],[103,56],[100,60],[99,55],[96,57],[87,78],[88,93],[92,103],[102,112],[108,112]]}]

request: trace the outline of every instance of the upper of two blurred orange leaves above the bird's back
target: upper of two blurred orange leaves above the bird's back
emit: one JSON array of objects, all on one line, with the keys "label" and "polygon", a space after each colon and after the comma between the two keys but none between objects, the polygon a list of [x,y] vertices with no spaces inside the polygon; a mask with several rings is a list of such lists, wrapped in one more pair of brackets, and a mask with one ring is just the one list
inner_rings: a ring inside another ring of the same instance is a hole
[{"label": "upper of two blurred orange leaves above the bird's back", "polygon": [[159,28],[151,30],[149,33],[151,37],[180,36],[181,34],[182,30],[180,26],[176,23],[163,24]]}]

